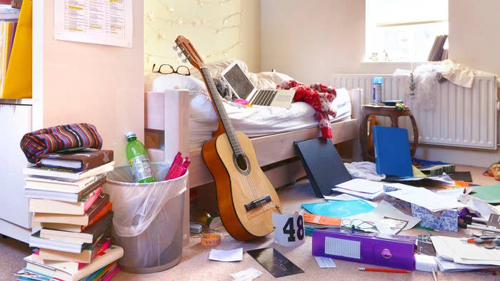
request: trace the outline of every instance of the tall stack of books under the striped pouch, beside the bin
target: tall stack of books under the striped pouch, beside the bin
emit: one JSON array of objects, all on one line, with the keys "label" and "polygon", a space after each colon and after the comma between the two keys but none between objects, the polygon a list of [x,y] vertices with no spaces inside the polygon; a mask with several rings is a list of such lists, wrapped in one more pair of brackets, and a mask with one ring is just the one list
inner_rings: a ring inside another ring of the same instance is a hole
[{"label": "tall stack of books under the striped pouch, beside the bin", "polygon": [[[113,170],[113,150],[49,153],[24,168],[24,195],[33,215],[26,267],[33,280],[109,280],[119,271],[121,247],[113,245],[113,205],[102,192]],[[41,277],[42,279],[36,279]],[[39,276],[41,275],[41,276]]]}]

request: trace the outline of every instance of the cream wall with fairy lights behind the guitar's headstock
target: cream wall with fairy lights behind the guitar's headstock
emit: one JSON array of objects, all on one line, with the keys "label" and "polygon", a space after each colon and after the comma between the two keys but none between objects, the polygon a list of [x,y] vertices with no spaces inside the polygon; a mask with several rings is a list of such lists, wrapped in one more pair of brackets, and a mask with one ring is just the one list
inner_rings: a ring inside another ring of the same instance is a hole
[{"label": "cream wall with fairy lights behind the guitar's headstock", "polygon": [[204,61],[238,58],[251,71],[260,70],[259,0],[144,1],[144,70],[153,63],[182,63],[172,50],[176,36],[183,35],[205,56]]}]

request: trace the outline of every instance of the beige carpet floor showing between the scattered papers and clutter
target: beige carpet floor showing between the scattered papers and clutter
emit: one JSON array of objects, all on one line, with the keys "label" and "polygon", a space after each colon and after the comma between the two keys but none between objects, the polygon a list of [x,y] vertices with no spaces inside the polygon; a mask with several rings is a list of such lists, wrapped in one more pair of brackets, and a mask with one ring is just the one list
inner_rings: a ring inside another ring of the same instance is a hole
[{"label": "beige carpet floor showing between the scattered papers and clutter", "polygon": [[[474,183],[489,185],[499,183],[493,178],[481,175],[484,168],[469,166],[459,166],[457,170],[469,170],[472,173]],[[307,180],[301,180],[295,185],[281,188],[278,192],[281,204],[284,206],[284,213],[293,213],[299,210],[302,203],[321,202],[322,200],[314,196],[311,185]],[[426,234],[425,230],[412,229],[404,234],[418,235]],[[445,235],[441,232],[439,235]],[[461,235],[464,233],[446,233],[446,235]],[[231,250],[236,247],[243,247],[244,257],[241,262],[216,262],[208,260],[211,247],[199,244],[199,235],[192,235],[189,247],[185,247],[182,252],[181,262],[175,267],[163,272],[156,272],[147,275],[135,275],[126,272],[119,272],[113,280],[233,280],[229,273],[239,272],[249,267],[254,267],[262,272],[258,280],[275,279],[267,272],[246,250],[258,249],[261,247],[274,247],[285,255],[291,262],[298,265],[304,273],[284,277],[286,280],[432,280],[429,272],[414,271],[409,274],[386,273],[386,272],[359,272],[358,267],[364,265],[356,262],[346,262],[336,260],[338,268],[321,269],[316,264],[311,255],[311,237],[306,237],[304,245],[299,247],[283,247],[274,244],[273,235],[268,235],[264,239],[252,242],[239,242],[231,236],[221,231],[221,245],[216,249]],[[29,255],[30,249],[26,243],[13,240],[9,237],[0,238],[0,280],[15,280],[13,273],[26,265],[22,260]],[[140,252],[137,255],[141,255]],[[367,266],[369,267],[369,266]],[[374,267],[374,266],[373,266]],[[479,272],[438,272],[438,280],[495,280],[498,277],[491,273]]]}]

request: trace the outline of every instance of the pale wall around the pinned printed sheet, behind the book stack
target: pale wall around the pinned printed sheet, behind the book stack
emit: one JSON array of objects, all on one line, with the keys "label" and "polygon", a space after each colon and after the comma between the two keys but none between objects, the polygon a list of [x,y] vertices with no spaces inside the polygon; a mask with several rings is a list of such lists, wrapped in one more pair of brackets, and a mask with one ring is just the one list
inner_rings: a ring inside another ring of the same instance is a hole
[{"label": "pale wall around the pinned printed sheet, behind the book stack", "polygon": [[34,129],[86,122],[125,165],[125,133],[144,140],[143,1],[133,48],[54,39],[54,1],[34,1]]}]

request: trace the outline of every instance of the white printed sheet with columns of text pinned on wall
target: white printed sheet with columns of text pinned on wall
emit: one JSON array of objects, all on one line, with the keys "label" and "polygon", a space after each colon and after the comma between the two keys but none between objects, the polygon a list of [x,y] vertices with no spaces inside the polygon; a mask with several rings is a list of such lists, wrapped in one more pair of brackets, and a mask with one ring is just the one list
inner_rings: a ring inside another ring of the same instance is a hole
[{"label": "white printed sheet with columns of text pinned on wall", "polygon": [[55,0],[55,38],[132,47],[132,0]]}]

